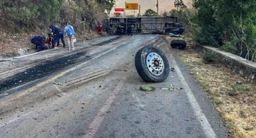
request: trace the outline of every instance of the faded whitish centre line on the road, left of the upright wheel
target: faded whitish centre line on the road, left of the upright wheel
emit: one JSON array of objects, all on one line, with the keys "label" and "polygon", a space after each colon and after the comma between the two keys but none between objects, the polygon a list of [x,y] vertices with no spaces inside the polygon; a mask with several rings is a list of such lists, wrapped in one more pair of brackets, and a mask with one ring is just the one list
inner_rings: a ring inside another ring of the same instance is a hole
[{"label": "faded whitish centre line on the road, left of the upright wheel", "polygon": [[89,125],[89,128],[85,130],[86,134],[84,136],[81,136],[83,138],[90,138],[95,135],[95,133],[98,131],[99,127],[102,124],[103,119],[105,118],[105,113],[110,109],[111,104],[113,103],[114,99],[116,98],[116,95],[120,91],[120,89],[123,86],[123,80],[121,80],[116,88],[113,91],[113,94],[108,97],[107,101],[105,101],[104,106],[101,107],[101,110],[99,110],[98,114],[96,115],[95,119],[93,119],[93,122]]}]

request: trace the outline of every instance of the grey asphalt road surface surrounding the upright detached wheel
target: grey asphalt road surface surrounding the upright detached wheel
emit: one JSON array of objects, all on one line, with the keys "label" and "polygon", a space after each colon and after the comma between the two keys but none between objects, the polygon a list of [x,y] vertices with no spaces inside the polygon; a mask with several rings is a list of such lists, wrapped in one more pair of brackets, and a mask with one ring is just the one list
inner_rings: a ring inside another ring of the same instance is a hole
[{"label": "grey asphalt road surface surrounding the upright detached wheel", "polygon": [[[146,83],[137,74],[134,56],[147,45],[163,50],[175,68],[164,82]],[[159,35],[123,36],[90,47],[90,59],[1,98],[0,137],[228,137],[175,50]],[[161,89],[170,85],[174,91]],[[140,86],[156,89],[145,92]]]}]

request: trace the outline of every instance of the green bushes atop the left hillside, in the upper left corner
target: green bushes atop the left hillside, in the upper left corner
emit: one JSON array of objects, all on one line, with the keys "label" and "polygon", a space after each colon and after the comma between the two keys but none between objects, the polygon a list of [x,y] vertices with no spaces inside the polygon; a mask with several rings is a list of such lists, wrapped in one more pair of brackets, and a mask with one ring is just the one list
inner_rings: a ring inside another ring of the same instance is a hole
[{"label": "green bushes atop the left hillside, in the upper left corner", "polygon": [[60,12],[64,0],[2,0],[0,7],[8,17],[21,25],[33,25],[35,20],[52,21]]}]

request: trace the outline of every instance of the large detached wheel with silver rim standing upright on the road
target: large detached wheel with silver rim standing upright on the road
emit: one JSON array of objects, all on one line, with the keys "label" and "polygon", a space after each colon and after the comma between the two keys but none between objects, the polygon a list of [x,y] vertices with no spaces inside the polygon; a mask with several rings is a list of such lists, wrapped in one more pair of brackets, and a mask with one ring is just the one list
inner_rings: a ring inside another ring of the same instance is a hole
[{"label": "large detached wheel with silver rim standing upright on the road", "polygon": [[169,62],[157,47],[140,49],[135,56],[135,67],[145,82],[163,82],[169,76]]}]

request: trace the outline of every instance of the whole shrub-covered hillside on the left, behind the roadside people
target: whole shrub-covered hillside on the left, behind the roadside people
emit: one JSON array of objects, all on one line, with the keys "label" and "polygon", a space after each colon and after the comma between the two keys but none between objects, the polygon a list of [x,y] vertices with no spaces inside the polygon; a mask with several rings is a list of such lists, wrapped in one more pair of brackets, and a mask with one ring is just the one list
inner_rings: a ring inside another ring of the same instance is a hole
[{"label": "whole shrub-covered hillside on the left, behind the roadside people", "polygon": [[96,0],[0,1],[0,4],[2,57],[33,50],[31,38],[36,35],[46,36],[51,24],[64,29],[65,23],[69,21],[75,29],[78,41],[100,37],[96,33],[96,25],[107,19],[104,4]]}]

